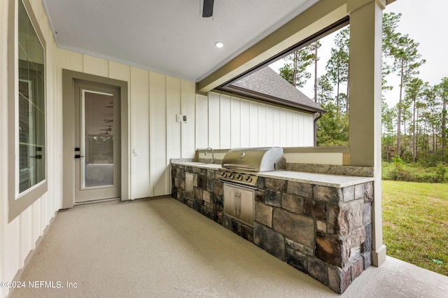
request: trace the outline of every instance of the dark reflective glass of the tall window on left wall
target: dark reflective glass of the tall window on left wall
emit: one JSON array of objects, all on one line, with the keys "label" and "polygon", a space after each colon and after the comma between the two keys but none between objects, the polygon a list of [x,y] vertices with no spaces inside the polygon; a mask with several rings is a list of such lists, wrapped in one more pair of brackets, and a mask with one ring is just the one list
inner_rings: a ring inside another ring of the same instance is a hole
[{"label": "dark reflective glass of the tall window on left wall", "polygon": [[19,193],[45,180],[44,50],[19,1],[18,11]]}]

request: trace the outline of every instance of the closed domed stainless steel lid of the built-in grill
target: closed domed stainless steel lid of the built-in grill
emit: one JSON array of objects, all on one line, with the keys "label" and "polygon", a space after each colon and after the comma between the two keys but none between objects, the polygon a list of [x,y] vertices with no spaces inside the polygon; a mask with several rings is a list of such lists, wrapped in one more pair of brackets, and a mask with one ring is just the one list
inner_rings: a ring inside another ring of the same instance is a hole
[{"label": "closed domed stainless steel lid of the built-in grill", "polygon": [[239,171],[275,171],[286,168],[283,148],[235,148],[225,153],[223,168]]}]

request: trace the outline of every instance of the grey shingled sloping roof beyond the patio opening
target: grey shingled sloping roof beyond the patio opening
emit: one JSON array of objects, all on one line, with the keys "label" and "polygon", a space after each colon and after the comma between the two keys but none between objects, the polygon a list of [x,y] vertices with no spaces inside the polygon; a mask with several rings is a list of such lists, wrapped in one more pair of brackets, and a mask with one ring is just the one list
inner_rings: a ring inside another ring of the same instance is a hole
[{"label": "grey shingled sloping roof beyond the patio opening", "polygon": [[225,85],[221,87],[221,90],[297,108],[302,111],[325,112],[321,106],[300,92],[300,90],[297,90],[269,66]]}]

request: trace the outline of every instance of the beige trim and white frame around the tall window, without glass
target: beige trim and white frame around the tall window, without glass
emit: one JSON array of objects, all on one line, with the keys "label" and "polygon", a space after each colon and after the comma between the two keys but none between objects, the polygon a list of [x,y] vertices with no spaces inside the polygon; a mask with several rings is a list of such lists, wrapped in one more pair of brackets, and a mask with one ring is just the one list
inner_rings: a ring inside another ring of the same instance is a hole
[{"label": "beige trim and white frame around the tall window, without glass", "polygon": [[[19,54],[18,54],[18,6],[22,1],[27,10],[27,16],[43,48],[43,122],[44,151],[43,159],[45,176],[43,180],[20,192],[20,166],[19,166]],[[8,3],[8,222],[11,222],[20,213],[25,211],[37,199],[48,192],[48,104],[47,104],[47,76],[46,76],[46,43],[38,21],[31,8],[29,0],[9,0]]]}]

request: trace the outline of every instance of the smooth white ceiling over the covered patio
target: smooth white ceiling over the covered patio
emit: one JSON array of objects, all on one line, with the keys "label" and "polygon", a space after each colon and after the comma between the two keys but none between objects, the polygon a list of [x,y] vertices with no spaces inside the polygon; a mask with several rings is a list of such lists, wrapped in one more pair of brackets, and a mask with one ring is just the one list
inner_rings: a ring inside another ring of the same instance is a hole
[{"label": "smooth white ceiling over the covered patio", "polygon": [[[60,48],[195,82],[318,0],[43,0]],[[216,48],[223,41],[224,48]]]}]

